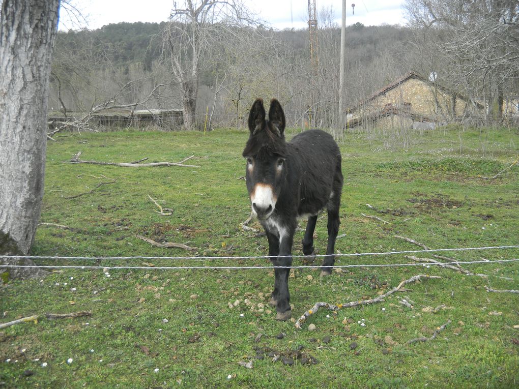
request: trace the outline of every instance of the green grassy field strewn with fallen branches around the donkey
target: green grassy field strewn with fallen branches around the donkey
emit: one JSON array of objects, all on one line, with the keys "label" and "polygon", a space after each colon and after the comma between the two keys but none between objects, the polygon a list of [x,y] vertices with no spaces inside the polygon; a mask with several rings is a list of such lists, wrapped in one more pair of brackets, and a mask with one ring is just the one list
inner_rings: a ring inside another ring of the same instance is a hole
[{"label": "green grassy field strewn with fallen branches around the donkey", "polygon": [[[266,255],[266,238],[241,228],[250,213],[240,179],[247,137],[248,132],[237,130],[58,135],[48,145],[41,221],[67,228],[40,226],[31,254]],[[494,176],[514,162],[517,131],[442,129],[407,134],[405,144],[400,147],[398,138],[384,134],[341,138],[345,185],[336,244],[340,253],[420,249],[395,235],[432,248],[519,244],[519,166],[495,179],[481,177]],[[83,160],[112,162],[145,157],[145,162],[178,162],[194,155],[186,163],[198,167],[63,163],[78,151]],[[158,207],[148,196],[172,209],[172,215],[155,212]],[[259,228],[255,221],[249,226]],[[195,249],[152,247],[137,235]],[[302,254],[302,235],[297,232],[295,255]],[[323,254],[325,215],[316,236],[316,249]],[[497,260],[517,258],[519,250],[441,254],[462,261]],[[343,257],[336,263],[409,262],[393,255]],[[265,259],[37,263],[269,265]],[[294,265],[302,265],[301,259]],[[275,308],[268,305],[274,283],[269,269],[56,269],[43,280],[3,286],[0,323],[46,312],[92,315],[42,316],[37,323],[3,329],[0,387],[517,387],[519,330],[513,326],[519,325],[519,295],[491,293],[485,286],[519,289],[519,263],[466,268],[485,277],[417,266],[345,268],[320,279],[316,269],[297,269],[289,282],[295,317],[317,301],[371,298],[415,274],[441,276],[409,284],[377,304],[319,311],[300,330],[293,322],[275,320]],[[399,303],[404,298],[413,301],[413,308]],[[435,339],[407,344],[431,337],[448,320]],[[316,330],[309,331],[309,324]],[[252,368],[239,364],[251,360]]]}]

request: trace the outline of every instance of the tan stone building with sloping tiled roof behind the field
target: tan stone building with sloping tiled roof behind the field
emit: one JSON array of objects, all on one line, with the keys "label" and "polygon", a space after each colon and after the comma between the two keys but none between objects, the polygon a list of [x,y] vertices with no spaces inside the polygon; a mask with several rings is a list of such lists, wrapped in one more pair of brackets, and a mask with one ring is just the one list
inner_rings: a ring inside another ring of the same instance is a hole
[{"label": "tan stone building with sloping tiled roof behind the field", "polygon": [[347,127],[434,128],[460,118],[467,107],[463,96],[412,72],[350,108]]}]

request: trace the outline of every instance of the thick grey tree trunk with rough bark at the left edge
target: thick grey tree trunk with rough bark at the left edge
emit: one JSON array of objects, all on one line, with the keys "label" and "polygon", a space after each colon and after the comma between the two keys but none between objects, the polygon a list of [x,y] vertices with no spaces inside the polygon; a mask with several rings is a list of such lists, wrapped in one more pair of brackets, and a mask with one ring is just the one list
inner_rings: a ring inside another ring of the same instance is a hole
[{"label": "thick grey tree trunk with rough bark at the left edge", "polygon": [[[0,16],[0,256],[26,255],[42,205],[59,0],[4,0]],[[28,263],[0,257],[2,263]],[[13,271],[30,275],[34,270]]]}]

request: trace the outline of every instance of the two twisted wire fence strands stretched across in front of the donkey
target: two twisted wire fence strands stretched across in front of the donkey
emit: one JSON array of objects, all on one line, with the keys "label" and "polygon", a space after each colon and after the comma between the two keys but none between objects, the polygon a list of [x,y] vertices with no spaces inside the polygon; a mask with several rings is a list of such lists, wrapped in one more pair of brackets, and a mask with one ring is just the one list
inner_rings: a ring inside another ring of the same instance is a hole
[{"label": "two twisted wire fence strands stretched across in front of the donkey", "polygon": [[[361,257],[361,256],[392,256],[392,255],[403,255],[403,254],[419,254],[419,253],[439,253],[439,252],[467,252],[467,251],[483,251],[483,250],[493,250],[493,249],[513,249],[519,248],[519,245],[508,245],[508,246],[485,246],[485,247],[458,247],[458,248],[435,248],[435,249],[422,249],[422,250],[405,250],[405,251],[390,251],[383,253],[348,253],[348,254],[334,254],[337,258],[342,257]],[[210,257],[210,256],[200,256],[200,257],[160,257],[160,256],[129,256],[129,257],[67,257],[67,256],[16,256],[16,255],[4,255],[0,256],[0,259],[52,259],[52,260],[107,260],[107,261],[115,261],[115,260],[174,260],[174,261],[215,261],[215,260],[258,260],[258,259],[274,259],[274,258],[284,258],[284,257],[292,257],[292,258],[324,258],[330,255],[321,254],[321,255],[291,255],[291,256],[276,256],[271,257],[268,255],[265,256],[223,256],[223,257]],[[519,261],[518,258],[513,259],[495,259],[495,260],[476,260],[476,261],[457,261],[452,260],[449,262],[413,262],[413,263],[362,263],[362,264],[351,264],[351,265],[334,265],[334,268],[371,268],[371,267],[406,267],[406,266],[445,266],[445,265],[473,265],[476,263],[504,263],[504,262],[515,262]],[[228,270],[238,270],[238,269],[283,269],[283,268],[291,268],[291,269],[305,269],[305,268],[316,268],[318,265],[301,265],[301,266],[212,266],[212,265],[203,265],[203,266],[91,266],[91,265],[0,265],[0,268],[46,268],[46,269],[134,269],[134,270],[181,270],[181,269],[228,269]]]}]

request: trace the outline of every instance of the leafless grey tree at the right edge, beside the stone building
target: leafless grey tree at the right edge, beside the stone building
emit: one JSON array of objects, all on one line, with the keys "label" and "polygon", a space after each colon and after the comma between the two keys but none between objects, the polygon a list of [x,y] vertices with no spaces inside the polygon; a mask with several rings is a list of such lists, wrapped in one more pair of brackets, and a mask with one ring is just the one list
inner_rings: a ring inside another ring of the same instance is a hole
[{"label": "leafless grey tree at the right edge, beside the stone building", "polygon": [[406,9],[413,26],[434,32],[434,55],[442,59],[449,84],[473,105],[484,100],[488,119],[500,122],[504,93],[517,94],[517,1],[407,0]]}]

